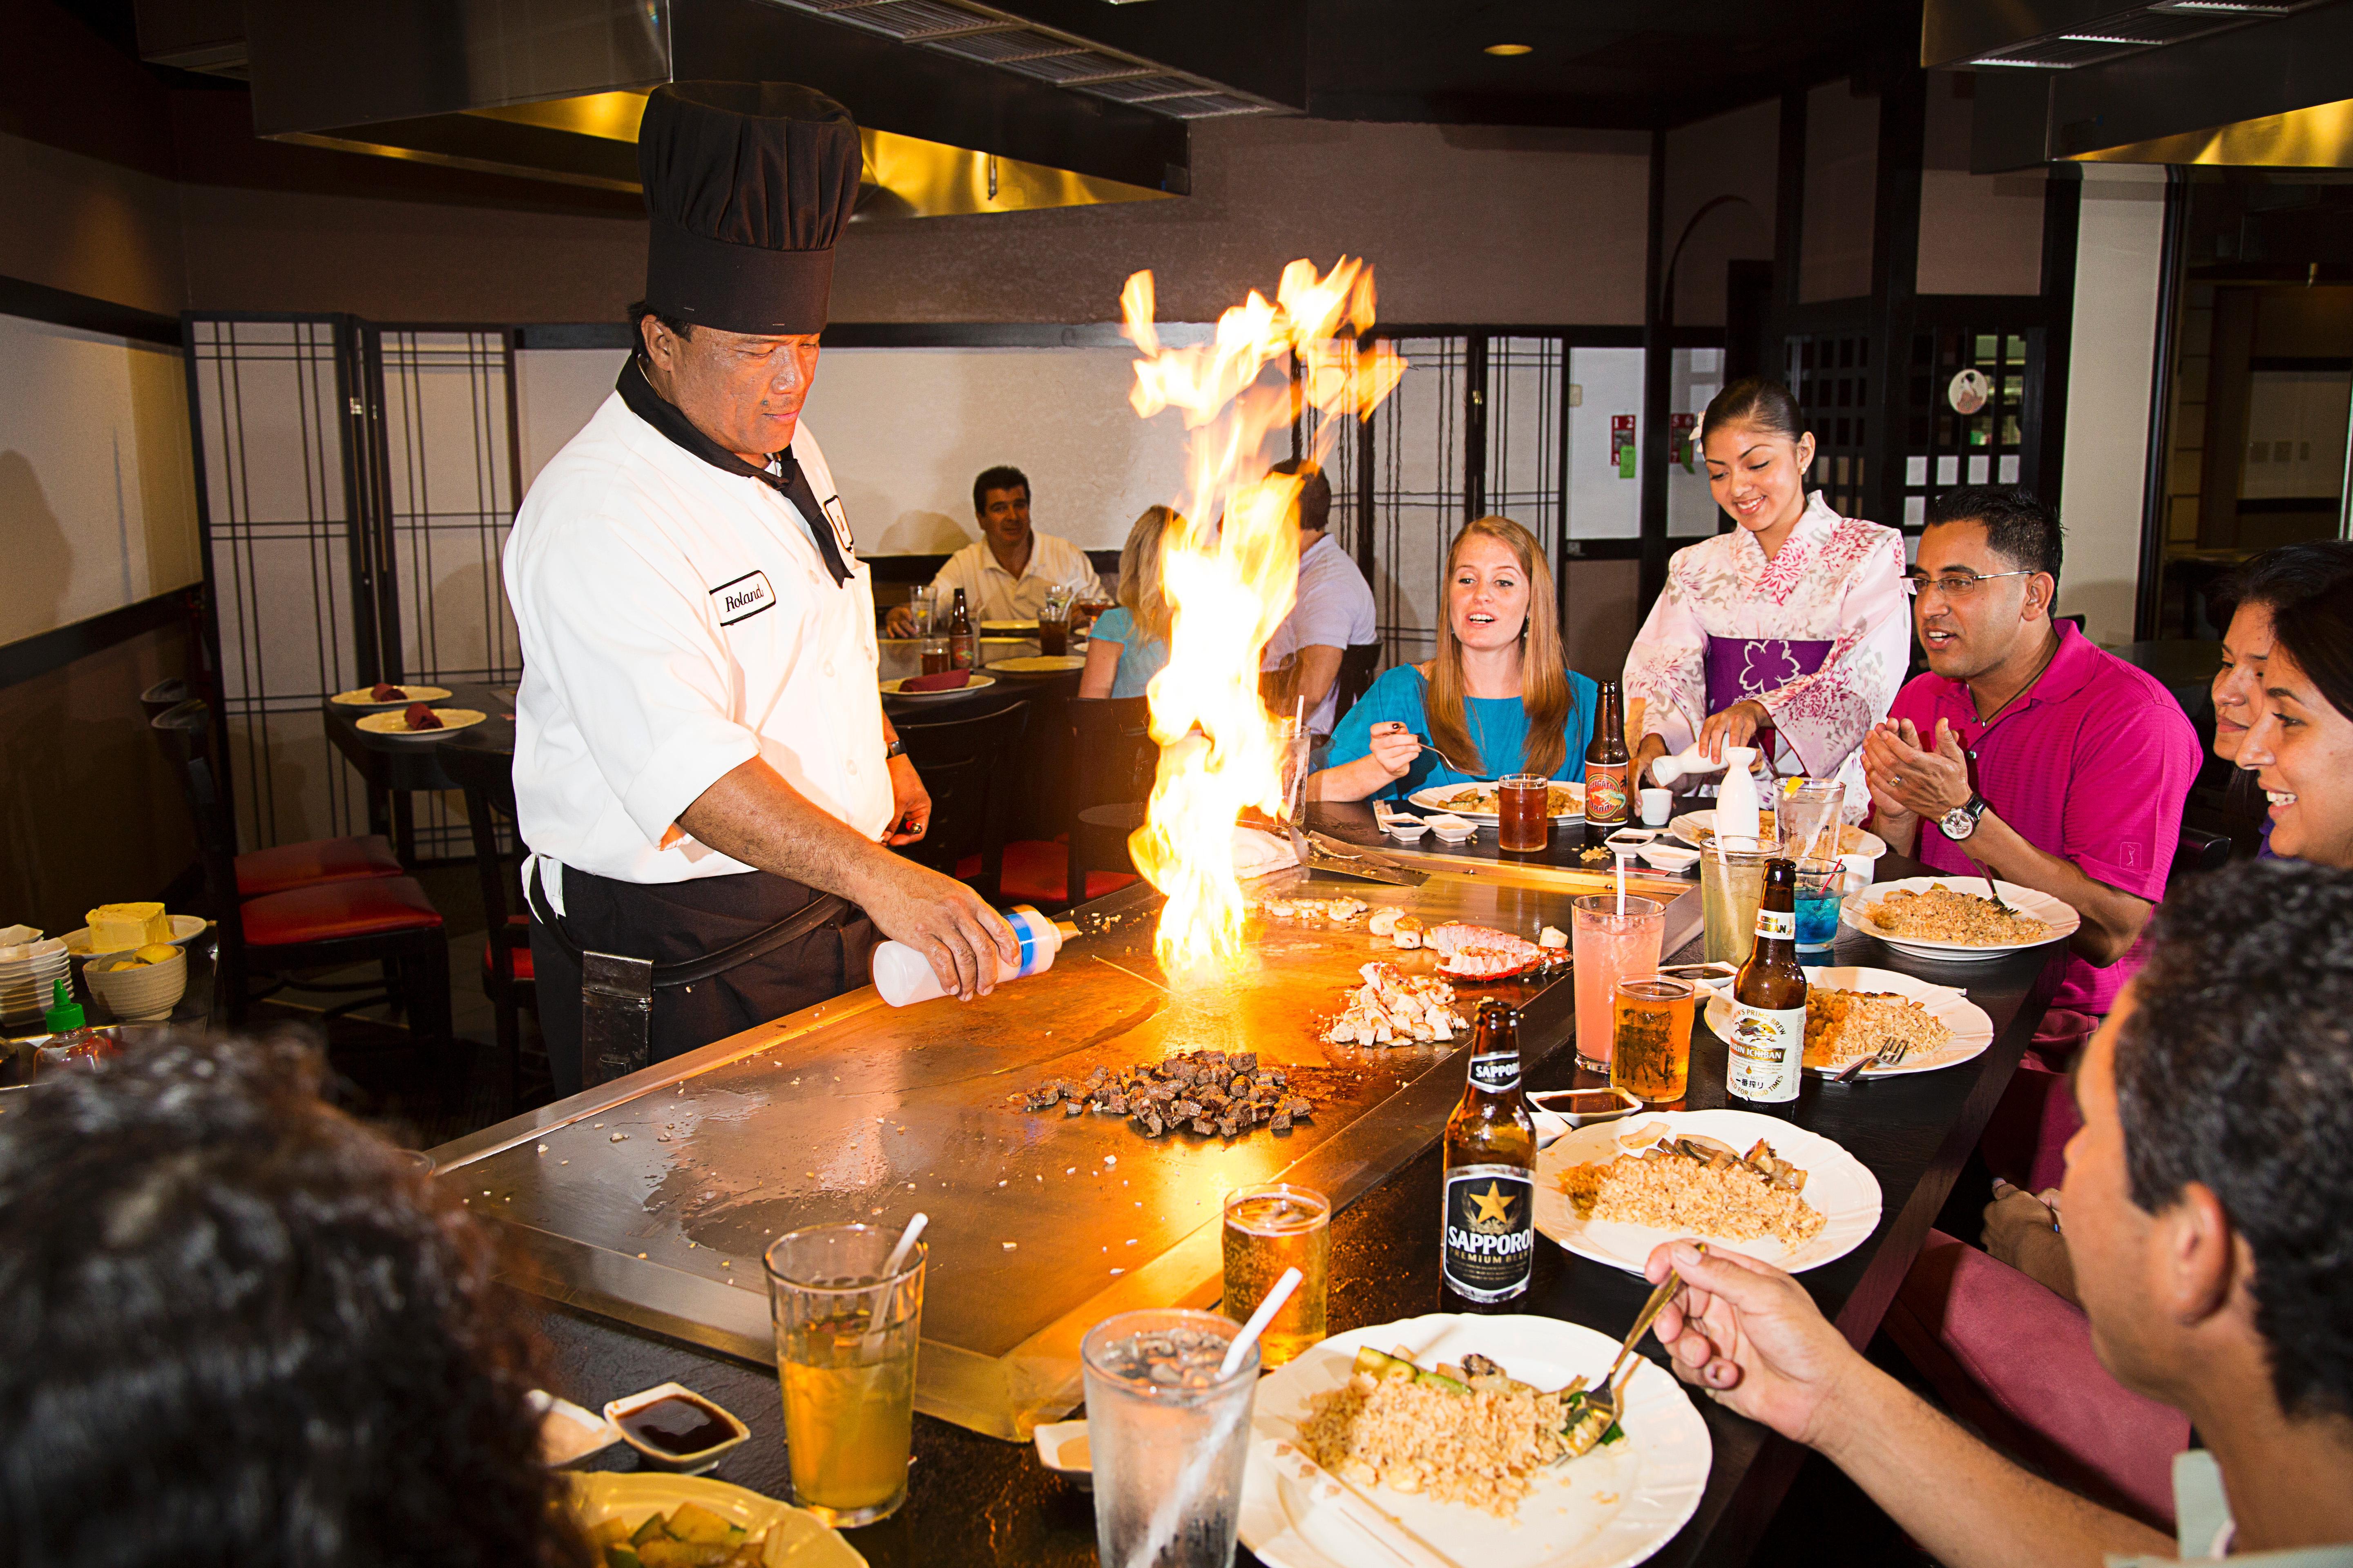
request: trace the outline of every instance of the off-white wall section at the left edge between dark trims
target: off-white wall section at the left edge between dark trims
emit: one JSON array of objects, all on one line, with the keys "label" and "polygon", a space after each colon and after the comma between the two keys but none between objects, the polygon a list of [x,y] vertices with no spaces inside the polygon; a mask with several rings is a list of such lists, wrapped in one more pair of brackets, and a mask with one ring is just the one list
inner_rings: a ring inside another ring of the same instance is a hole
[{"label": "off-white wall section at the left edge between dark trims", "polygon": [[0,642],[202,576],[176,348],[0,315]]}]

